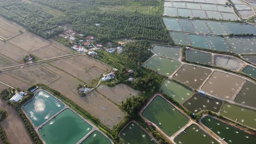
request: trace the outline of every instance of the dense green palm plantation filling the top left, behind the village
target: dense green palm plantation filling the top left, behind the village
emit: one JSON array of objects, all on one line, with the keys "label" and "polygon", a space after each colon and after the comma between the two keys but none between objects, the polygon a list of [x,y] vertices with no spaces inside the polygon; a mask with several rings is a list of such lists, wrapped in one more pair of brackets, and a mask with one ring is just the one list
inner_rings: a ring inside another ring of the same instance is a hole
[{"label": "dense green palm plantation filling the top left, behind the village", "polygon": [[[63,14],[53,16],[39,3]],[[75,32],[96,36],[102,43],[118,38],[168,42],[161,22],[162,4],[161,0],[1,0],[0,15],[45,38],[56,36],[63,25],[70,24]]]}]

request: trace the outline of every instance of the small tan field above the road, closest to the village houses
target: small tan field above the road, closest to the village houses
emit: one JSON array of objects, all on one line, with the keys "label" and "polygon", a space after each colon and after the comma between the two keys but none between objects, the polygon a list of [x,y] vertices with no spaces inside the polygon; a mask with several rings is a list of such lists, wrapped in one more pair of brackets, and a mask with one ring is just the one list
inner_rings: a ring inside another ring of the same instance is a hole
[{"label": "small tan field above the road, closest to the village houses", "polygon": [[69,54],[60,49],[57,49],[52,45],[46,45],[39,49],[35,49],[31,53],[39,57],[40,59],[50,59],[50,58],[59,57],[59,56],[66,56]]}]

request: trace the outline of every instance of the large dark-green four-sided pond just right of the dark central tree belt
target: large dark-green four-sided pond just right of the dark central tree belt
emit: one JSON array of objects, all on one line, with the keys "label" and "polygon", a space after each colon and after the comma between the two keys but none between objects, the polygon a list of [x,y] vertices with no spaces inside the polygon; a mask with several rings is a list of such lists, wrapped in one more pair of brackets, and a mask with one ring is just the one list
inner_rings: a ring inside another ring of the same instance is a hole
[{"label": "large dark-green four-sided pond just right of the dark central tree belt", "polygon": [[150,102],[142,115],[156,124],[168,136],[172,136],[188,123],[188,118],[160,95]]}]

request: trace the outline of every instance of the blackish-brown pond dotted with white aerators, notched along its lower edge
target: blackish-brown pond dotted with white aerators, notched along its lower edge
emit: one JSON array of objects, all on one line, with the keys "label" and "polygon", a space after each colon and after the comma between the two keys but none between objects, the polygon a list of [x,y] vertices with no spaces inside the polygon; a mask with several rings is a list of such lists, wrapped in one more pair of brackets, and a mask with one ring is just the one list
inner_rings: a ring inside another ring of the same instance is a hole
[{"label": "blackish-brown pond dotted with white aerators, notched along its lower edge", "polygon": [[187,100],[184,104],[187,110],[197,113],[203,110],[211,110],[219,112],[222,105],[222,101],[217,101],[203,95],[195,94],[192,98]]}]

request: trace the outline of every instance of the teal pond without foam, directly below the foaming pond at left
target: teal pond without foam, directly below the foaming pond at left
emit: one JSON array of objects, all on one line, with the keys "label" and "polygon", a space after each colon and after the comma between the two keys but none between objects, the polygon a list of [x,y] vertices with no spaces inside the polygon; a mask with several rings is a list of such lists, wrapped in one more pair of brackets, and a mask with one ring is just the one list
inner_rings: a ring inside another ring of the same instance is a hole
[{"label": "teal pond without foam, directly below the foaming pond at left", "polygon": [[46,144],[75,144],[90,131],[92,126],[70,109],[65,109],[38,129]]}]

